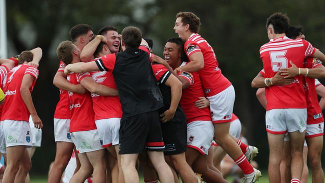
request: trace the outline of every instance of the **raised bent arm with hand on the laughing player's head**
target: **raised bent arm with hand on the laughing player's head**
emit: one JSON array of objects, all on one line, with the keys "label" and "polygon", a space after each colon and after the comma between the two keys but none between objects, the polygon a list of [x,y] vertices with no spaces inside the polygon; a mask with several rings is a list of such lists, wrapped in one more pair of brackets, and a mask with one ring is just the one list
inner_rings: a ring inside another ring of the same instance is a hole
[{"label": "raised bent arm with hand on the laughing player's head", "polygon": [[83,62],[88,62],[94,59],[93,53],[96,51],[100,42],[107,43],[107,39],[103,35],[96,35],[88,44],[86,44],[81,53],[80,60]]}]

